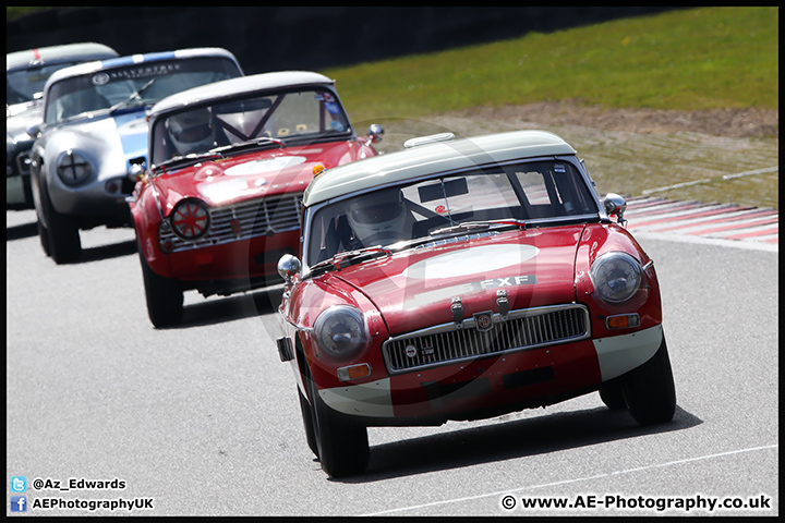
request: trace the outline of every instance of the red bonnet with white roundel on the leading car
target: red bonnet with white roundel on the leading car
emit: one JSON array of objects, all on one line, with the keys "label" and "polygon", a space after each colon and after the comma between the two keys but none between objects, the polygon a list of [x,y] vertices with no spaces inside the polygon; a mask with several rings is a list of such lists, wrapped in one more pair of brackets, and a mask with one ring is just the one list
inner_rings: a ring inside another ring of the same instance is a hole
[{"label": "red bonnet with white roundel on the leading car", "polygon": [[390,335],[454,320],[454,297],[463,317],[571,303],[575,257],[582,224],[505,232],[491,238],[425,246],[330,272],[363,292],[382,313]]}]

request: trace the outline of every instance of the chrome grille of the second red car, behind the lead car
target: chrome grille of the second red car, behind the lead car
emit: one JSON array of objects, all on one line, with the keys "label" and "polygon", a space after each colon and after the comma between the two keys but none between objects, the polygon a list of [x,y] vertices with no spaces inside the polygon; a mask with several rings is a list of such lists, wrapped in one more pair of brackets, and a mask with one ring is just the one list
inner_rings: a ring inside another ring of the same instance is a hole
[{"label": "chrome grille of the second red car, behind the lead car", "polygon": [[269,233],[294,231],[301,223],[302,193],[283,197],[259,198],[226,207],[209,209],[210,226],[207,234],[185,241],[171,228],[160,229],[161,243],[171,240],[172,252],[201,248],[221,243],[237,242]]}]

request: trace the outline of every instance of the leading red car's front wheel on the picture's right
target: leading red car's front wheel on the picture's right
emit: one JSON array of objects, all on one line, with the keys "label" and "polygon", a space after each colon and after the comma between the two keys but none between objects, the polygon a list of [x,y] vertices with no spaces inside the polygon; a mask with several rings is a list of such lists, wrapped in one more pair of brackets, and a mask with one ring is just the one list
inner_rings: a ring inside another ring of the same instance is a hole
[{"label": "leading red car's front wheel on the picture's right", "polygon": [[651,360],[626,375],[623,388],[627,409],[639,424],[665,423],[673,418],[676,388],[664,338]]}]

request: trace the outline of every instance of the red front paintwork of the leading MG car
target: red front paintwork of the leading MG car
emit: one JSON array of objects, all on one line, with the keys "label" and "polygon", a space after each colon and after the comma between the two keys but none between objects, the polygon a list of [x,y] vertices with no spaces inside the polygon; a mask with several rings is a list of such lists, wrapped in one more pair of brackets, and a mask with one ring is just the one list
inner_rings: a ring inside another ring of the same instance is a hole
[{"label": "red front paintwork of the leading MG car", "polygon": [[[476,250],[495,245],[509,245],[510,248],[530,245],[538,247],[539,252],[534,257],[516,266],[494,270],[485,269],[491,264],[486,260],[481,262],[476,270],[467,267],[463,276],[425,279],[407,277],[406,270],[409,267],[425,259],[456,253],[460,259],[471,260],[473,251],[482,252]],[[336,368],[353,363],[370,363],[373,374],[352,382],[370,382],[388,377],[382,355],[383,341],[390,336],[452,321],[452,295],[461,297],[464,318],[470,318],[475,312],[496,312],[496,290],[500,287],[496,283],[482,285],[478,282],[498,282],[499,278],[536,275],[535,284],[502,287],[507,291],[510,311],[575,302],[585,304],[590,308],[593,338],[630,333],[661,324],[660,289],[653,267],[644,271],[638,296],[624,307],[612,309],[593,299],[589,267],[597,256],[611,251],[627,252],[639,259],[641,265],[649,262],[649,257],[632,236],[615,223],[511,231],[493,238],[397,253],[390,257],[383,256],[341,270],[333,270],[305,281],[295,280],[281,312],[290,325],[298,326],[300,342],[318,388],[350,385],[338,380]],[[438,300],[430,303],[425,303],[427,300],[420,300],[414,303],[416,296],[427,293],[437,295],[444,290],[446,291]],[[412,306],[404,306],[408,302]],[[310,333],[302,330],[312,328],[318,314],[336,304],[349,304],[364,311],[371,332],[372,341],[366,351],[348,362],[326,358],[312,342]],[[623,312],[637,312],[641,317],[640,327],[620,331],[607,330],[605,317]],[[509,390],[502,386],[504,375],[547,366],[553,367],[555,377],[548,382]],[[446,399],[434,404],[428,401],[423,387],[423,384],[428,382],[449,387],[450,384],[476,378],[487,378],[490,393],[482,394],[481,398],[469,394],[469,398]],[[396,416],[426,416],[516,402],[536,402],[544,397],[569,394],[581,388],[596,386],[601,380],[596,351],[591,339],[588,339],[480,358],[469,364],[444,365],[394,375],[390,384]]]}]

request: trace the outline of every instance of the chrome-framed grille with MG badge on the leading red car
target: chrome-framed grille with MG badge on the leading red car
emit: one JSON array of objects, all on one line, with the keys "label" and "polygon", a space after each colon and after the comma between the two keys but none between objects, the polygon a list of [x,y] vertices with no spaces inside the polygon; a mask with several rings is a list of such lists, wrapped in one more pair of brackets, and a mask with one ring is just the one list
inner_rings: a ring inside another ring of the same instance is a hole
[{"label": "chrome-framed grille with MG badge on the leading red car", "polygon": [[568,304],[512,311],[506,319],[497,313],[486,331],[479,330],[473,318],[463,320],[461,327],[444,324],[390,338],[382,350],[387,370],[396,374],[589,336],[589,309]]}]

